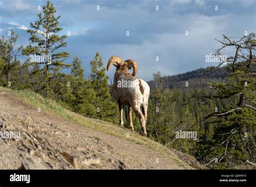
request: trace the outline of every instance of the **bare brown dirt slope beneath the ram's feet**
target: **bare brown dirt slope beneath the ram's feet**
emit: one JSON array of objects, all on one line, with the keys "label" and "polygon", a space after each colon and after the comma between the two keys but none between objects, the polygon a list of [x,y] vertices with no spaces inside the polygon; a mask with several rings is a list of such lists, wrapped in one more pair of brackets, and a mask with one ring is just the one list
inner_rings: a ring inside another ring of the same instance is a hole
[{"label": "bare brown dirt slope beneath the ram's feet", "polygon": [[[191,157],[185,155],[186,163],[170,150],[160,152],[139,143],[155,142],[136,133],[105,121],[82,120],[87,121],[87,127],[51,112],[38,112],[37,107],[0,87],[0,131],[21,132],[19,140],[0,139],[0,169],[200,168]],[[124,138],[93,130],[95,126],[102,130],[113,128],[112,132],[121,132]],[[141,140],[130,141],[130,134],[131,138]]]}]

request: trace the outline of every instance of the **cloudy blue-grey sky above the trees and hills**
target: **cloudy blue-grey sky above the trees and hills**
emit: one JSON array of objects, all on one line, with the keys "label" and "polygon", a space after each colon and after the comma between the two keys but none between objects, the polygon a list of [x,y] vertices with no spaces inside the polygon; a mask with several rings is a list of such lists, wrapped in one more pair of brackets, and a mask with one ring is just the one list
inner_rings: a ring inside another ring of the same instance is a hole
[{"label": "cloudy blue-grey sky above the trees and hills", "polygon": [[[26,29],[31,21],[37,20],[37,13],[42,12],[38,6],[45,2],[0,0],[0,34],[7,36],[13,28],[20,36],[18,45],[28,45]],[[136,60],[137,77],[146,81],[156,71],[175,75],[215,66],[205,62],[205,56],[219,46],[214,38],[221,39],[221,34],[240,37],[245,31],[256,31],[256,0],[51,0],[51,3],[61,16],[60,34],[70,32],[65,49],[70,52],[67,63],[77,55],[86,77],[96,52],[102,55],[105,66],[112,55]],[[107,72],[111,79],[114,69]]]}]

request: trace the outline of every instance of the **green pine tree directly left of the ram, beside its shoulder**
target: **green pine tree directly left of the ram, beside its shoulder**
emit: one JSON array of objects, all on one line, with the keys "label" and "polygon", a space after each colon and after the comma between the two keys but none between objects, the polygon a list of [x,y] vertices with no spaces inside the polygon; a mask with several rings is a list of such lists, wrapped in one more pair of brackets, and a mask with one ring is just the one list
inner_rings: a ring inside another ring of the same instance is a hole
[{"label": "green pine tree directly left of the ram, beside its shoulder", "polygon": [[118,107],[111,100],[109,84],[107,83],[109,77],[105,75],[106,68],[103,67],[102,57],[98,52],[90,64],[91,75],[89,76],[89,88],[96,92],[96,98],[91,102],[95,105],[97,118],[116,121]]}]

